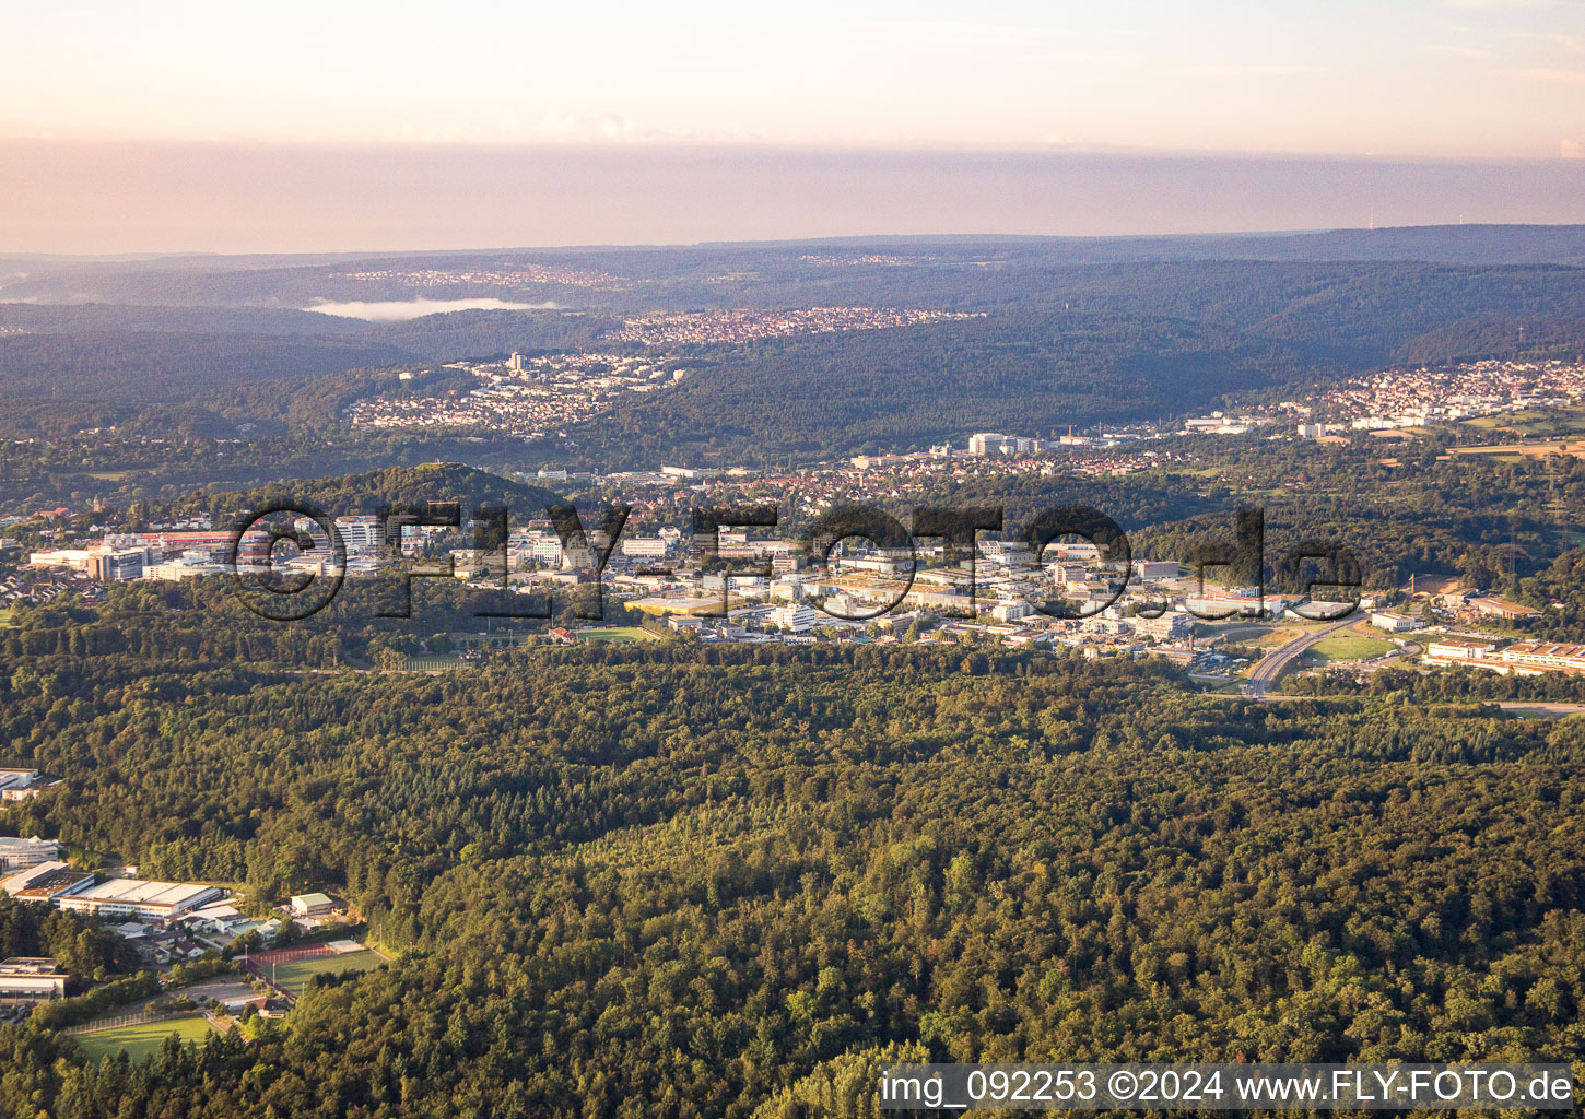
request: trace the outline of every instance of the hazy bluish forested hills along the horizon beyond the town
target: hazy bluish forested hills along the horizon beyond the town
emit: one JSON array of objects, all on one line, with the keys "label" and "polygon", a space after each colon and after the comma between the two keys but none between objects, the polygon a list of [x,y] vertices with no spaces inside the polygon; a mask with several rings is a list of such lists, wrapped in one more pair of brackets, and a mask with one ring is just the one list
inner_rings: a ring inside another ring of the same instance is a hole
[{"label": "hazy bluish forested hills along the horizon beyond the town", "polygon": [[[1585,349],[1585,268],[1550,262],[1572,258],[1580,228],[1384,231],[1382,255],[1414,257],[1420,247],[1428,260],[1374,262],[1346,257],[1376,235],[1336,233],[865,239],[288,268],[225,258],[49,265],[8,281],[0,298],[44,298],[70,277],[86,288],[73,298],[120,303],[0,304],[0,434],[70,433],[78,412],[90,417],[79,428],[109,426],[108,418],[127,430],[149,409],[170,415],[179,404],[192,409],[184,430],[260,437],[292,428],[300,444],[336,442],[339,466],[453,458],[449,447],[395,445],[433,434],[382,434],[372,447],[336,431],[355,388],[372,384],[353,371],[433,369],[510,350],[631,352],[642,347],[612,334],[631,315],[812,306],[973,317],[667,344],[666,357],[689,363],[680,387],[623,399],[567,439],[512,450],[533,461],[653,469],[678,458],[753,464],[900,450],[973,430],[1049,434],[1070,423],[1167,418],[1214,407],[1227,393],[1314,385],[1390,363],[1572,358]],[[1541,250],[1547,238],[1556,244],[1550,255]],[[1289,249],[1266,250],[1268,241]],[[1330,244],[1339,260],[1287,258],[1303,257],[1306,244]],[[1141,258],[1151,246],[1155,255]],[[1246,250],[1268,258],[1236,255]],[[301,311],[323,298],[533,309],[387,323]]]}]

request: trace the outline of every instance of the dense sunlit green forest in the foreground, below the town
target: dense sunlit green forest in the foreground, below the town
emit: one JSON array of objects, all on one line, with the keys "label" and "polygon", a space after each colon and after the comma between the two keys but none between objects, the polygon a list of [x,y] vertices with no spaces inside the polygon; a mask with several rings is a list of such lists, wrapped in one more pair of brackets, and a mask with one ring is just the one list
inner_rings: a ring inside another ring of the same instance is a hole
[{"label": "dense sunlit green forest in the foreground, below the town", "polygon": [[13,659],[0,732],[68,783],[10,824],[263,896],[330,886],[399,961],[138,1068],[0,1029],[0,1106],[794,1116],[886,1052],[1585,1043],[1582,720],[1197,697],[976,650],[521,656]]}]

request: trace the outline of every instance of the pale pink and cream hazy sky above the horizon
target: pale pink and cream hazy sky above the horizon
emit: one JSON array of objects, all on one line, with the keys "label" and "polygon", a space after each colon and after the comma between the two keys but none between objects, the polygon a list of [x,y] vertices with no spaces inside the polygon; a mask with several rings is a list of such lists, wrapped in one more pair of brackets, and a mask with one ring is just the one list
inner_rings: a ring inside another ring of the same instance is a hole
[{"label": "pale pink and cream hazy sky above the horizon", "polygon": [[[1382,220],[1585,220],[1585,0],[0,3],[0,250],[1311,228],[1365,223],[1382,168]],[[1174,190],[1206,160],[1220,190]],[[1273,160],[1327,201],[1251,200],[1289,189]],[[1496,163],[1536,178],[1438,179]],[[540,181],[569,170],[582,208]],[[1098,181],[1122,193],[1065,217],[1003,204]]]}]

